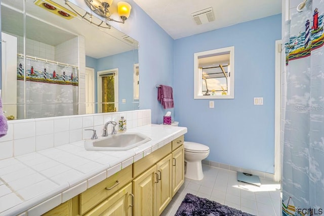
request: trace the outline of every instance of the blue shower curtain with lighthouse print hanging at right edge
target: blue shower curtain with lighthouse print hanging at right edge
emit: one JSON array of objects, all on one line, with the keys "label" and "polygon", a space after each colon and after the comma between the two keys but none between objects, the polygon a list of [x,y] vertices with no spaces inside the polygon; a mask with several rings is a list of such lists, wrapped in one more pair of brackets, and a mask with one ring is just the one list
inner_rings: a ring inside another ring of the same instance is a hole
[{"label": "blue shower curtain with lighthouse print hanging at right edge", "polygon": [[285,28],[282,215],[324,215],[324,1],[302,10]]}]

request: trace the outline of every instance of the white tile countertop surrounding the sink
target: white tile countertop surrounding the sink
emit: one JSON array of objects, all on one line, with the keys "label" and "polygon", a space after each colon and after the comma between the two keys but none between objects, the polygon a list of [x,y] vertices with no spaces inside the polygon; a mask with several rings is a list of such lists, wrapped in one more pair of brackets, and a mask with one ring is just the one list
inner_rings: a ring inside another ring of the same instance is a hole
[{"label": "white tile countertop surrounding the sink", "polygon": [[82,140],[0,160],[0,215],[45,213],[185,134],[187,128],[149,124],[127,132],[151,140],[128,151],[87,151]]}]

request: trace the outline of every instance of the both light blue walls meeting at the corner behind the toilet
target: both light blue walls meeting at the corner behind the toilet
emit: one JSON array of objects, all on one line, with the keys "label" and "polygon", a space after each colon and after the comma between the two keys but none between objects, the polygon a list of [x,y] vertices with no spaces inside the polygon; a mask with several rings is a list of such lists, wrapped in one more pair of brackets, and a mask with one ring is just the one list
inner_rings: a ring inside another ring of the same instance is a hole
[{"label": "both light blue walls meeting at the corner behind the toilet", "polygon": [[[155,85],[173,86],[174,117],[188,127],[186,140],[208,145],[209,160],[273,173],[274,43],[281,39],[281,15],[173,40],[127,2],[130,18],[110,24],[139,42],[140,109],[151,109],[152,123],[161,123],[166,110]],[[193,99],[193,53],[228,46],[235,46],[235,99],[214,100],[209,109],[209,100]],[[264,105],[253,105],[253,97],[264,97]]]}]

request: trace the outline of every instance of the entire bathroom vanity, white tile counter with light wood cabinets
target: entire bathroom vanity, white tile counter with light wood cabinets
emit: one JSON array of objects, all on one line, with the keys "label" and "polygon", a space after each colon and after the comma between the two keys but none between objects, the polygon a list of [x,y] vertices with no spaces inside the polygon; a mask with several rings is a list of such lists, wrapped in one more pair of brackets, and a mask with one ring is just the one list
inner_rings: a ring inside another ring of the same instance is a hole
[{"label": "entire bathroom vanity, white tile counter with light wood cabinets", "polygon": [[0,191],[0,215],[159,215],[184,182],[187,128],[145,123],[128,132],[151,140],[126,151],[87,151],[83,139],[0,160],[0,186],[11,190]]}]

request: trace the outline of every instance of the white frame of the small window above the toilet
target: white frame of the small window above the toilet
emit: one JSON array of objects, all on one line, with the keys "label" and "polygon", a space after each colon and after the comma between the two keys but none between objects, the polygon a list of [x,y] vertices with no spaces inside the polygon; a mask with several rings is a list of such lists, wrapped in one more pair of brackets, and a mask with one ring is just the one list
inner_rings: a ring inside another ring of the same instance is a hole
[{"label": "white frame of the small window above the toilet", "polygon": [[[230,62],[230,79],[229,88],[227,95],[203,95],[202,93],[202,82],[203,79],[201,70],[199,69],[198,59],[201,57],[221,55],[229,52],[229,62]],[[208,50],[203,52],[194,53],[194,99],[234,99],[234,46],[225,47],[215,50]]]}]

